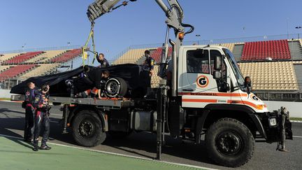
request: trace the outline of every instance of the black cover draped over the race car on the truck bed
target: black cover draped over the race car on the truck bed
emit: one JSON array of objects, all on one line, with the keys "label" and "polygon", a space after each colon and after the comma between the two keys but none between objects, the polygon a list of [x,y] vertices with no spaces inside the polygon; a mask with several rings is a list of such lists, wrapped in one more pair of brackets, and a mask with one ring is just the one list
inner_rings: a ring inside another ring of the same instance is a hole
[{"label": "black cover draped over the race car on the truck bed", "polygon": [[[148,87],[148,81],[145,80],[145,75],[143,73],[142,66],[140,65],[120,64],[116,66],[108,66],[106,68],[98,68],[94,66],[89,67],[90,71],[94,69],[99,69],[101,71],[108,70],[110,72],[110,77],[123,78],[127,82],[129,91],[141,91],[145,90],[145,87]],[[24,82],[12,87],[10,93],[24,94],[27,90],[27,83],[34,82],[38,87],[41,87],[41,85],[43,84],[50,85],[50,96],[69,97],[70,94],[65,81],[72,80],[74,77],[78,76],[82,71],[82,66],[80,66],[78,69],[73,69],[71,71],[55,73],[47,76],[28,78]]]}]

